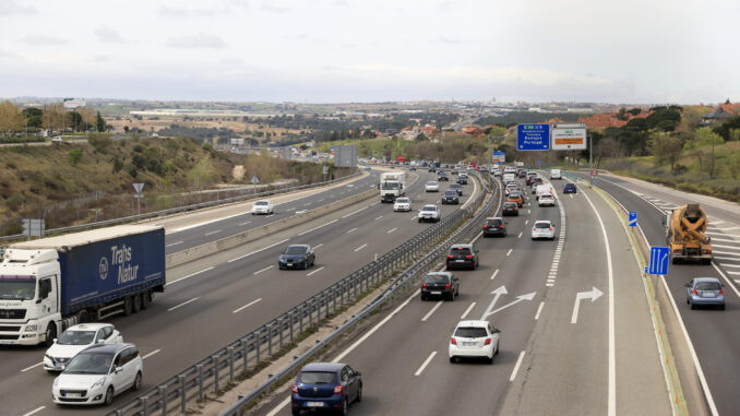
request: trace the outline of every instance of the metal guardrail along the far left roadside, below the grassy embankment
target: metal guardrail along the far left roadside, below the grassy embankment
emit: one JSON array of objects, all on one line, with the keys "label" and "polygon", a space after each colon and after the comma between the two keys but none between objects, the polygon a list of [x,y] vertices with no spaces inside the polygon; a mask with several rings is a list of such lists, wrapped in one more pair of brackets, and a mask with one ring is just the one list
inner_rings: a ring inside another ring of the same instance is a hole
[{"label": "metal guardrail along the far left roadside, below the grassy embankment", "polygon": [[[362,175],[362,173],[357,171],[355,174],[347,175],[347,176],[344,176],[342,178],[332,179],[332,180],[327,180],[327,181],[323,181],[323,182],[300,185],[300,186],[297,186],[297,187],[267,189],[266,191],[262,191],[262,192],[244,193],[244,194],[239,195],[239,197],[225,198],[225,199],[215,200],[215,201],[199,202],[199,203],[192,204],[192,205],[184,205],[184,206],[178,206],[178,207],[174,207],[174,209],[154,211],[154,212],[150,212],[150,213],[145,213],[145,214],[130,215],[130,216],[123,216],[123,217],[115,218],[115,219],[106,219],[106,221],[98,221],[98,222],[93,222],[93,223],[87,223],[87,224],[72,225],[72,226],[69,226],[69,227],[52,228],[52,229],[45,230],[45,234],[60,234],[60,233],[63,234],[63,233],[70,233],[70,231],[79,231],[79,230],[83,230],[83,229],[109,227],[111,225],[131,223],[131,222],[135,222],[135,221],[141,221],[141,219],[155,218],[155,217],[158,217],[158,216],[177,214],[177,213],[194,211],[194,210],[201,210],[201,209],[204,209],[204,207],[224,205],[224,204],[228,204],[228,203],[232,203],[232,202],[239,202],[239,201],[246,201],[246,200],[250,200],[250,199],[259,199],[259,198],[270,197],[270,195],[274,195],[274,194],[278,194],[278,193],[287,193],[287,192],[301,191],[301,190],[311,189],[311,188],[330,186],[330,185],[334,185],[336,182],[347,180],[349,178],[354,178],[354,177],[360,176],[360,175]],[[1,236],[0,241],[12,241],[12,240],[22,239],[22,238],[25,238],[25,237],[27,237],[25,234],[16,234],[16,235],[13,235],[13,236]]]}]

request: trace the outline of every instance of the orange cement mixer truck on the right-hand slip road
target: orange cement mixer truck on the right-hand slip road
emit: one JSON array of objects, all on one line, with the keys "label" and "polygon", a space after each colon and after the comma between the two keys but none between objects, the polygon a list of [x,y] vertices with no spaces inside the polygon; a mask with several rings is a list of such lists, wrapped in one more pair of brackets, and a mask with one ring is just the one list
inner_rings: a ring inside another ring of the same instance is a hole
[{"label": "orange cement mixer truck on the right-hand slip road", "polygon": [[712,262],[711,238],[705,234],[708,218],[699,204],[688,204],[671,211],[664,218],[666,240],[673,264]]}]

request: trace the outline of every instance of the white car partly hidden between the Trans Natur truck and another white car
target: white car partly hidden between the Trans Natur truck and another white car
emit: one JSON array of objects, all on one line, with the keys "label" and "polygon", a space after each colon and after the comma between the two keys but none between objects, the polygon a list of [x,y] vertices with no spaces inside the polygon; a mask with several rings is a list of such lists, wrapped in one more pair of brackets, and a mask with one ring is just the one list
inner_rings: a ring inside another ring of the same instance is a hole
[{"label": "white car partly hidden between the Trans Natur truck and another white car", "polygon": [[44,354],[44,369],[62,371],[77,353],[96,344],[122,344],[123,336],[110,323],[81,323],[67,329]]}]

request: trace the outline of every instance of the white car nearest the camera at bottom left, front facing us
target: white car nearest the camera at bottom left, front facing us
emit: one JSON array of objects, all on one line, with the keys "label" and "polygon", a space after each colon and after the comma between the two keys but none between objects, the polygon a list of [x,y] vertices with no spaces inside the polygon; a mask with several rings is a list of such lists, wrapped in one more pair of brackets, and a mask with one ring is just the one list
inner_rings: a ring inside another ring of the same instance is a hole
[{"label": "white car nearest the camera at bottom left, front facing us", "polygon": [[141,389],[144,362],[132,344],[93,345],[81,352],[53,380],[57,404],[110,404],[129,389]]}]

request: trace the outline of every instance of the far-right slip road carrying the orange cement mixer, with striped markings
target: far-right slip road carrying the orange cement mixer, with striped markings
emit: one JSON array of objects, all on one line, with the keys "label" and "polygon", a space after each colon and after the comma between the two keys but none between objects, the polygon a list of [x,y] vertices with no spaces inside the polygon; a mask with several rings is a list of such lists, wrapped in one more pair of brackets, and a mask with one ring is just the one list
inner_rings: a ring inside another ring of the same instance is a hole
[{"label": "far-right slip road carrying the orange cement mixer, with striped markings", "polygon": [[[740,369],[740,209],[729,203],[704,195],[676,191],[652,183],[628,180],[614,176],[600,176],[597,185],[609,192],[625,209],[637,212],[641,225],[651,246],[666,246],[661,218],[665,212],[685,203],[700,203],[709,215],[707,234],[712,237],[714,264],[671,264],[665,282],[672,295],[680,319],[685,328],[689,343],[695,350],[695,360],[690,357],[681,373],[683,380],[696,380],[702,388],[709,414],[737,414],[740,395],[737,394],[738,369]],[[683,285],[693,277],[716,277],[726,284],[727,309],[691,310],[685,304]],[[682,329],[679,330],[683,332]],[[699,366],[696,366],[699,364]],[[702,411],[703,403],[694,405]],[[691,409],[691,407],[690,407]],[[713,412],[714,411],[714,412]]]}]

